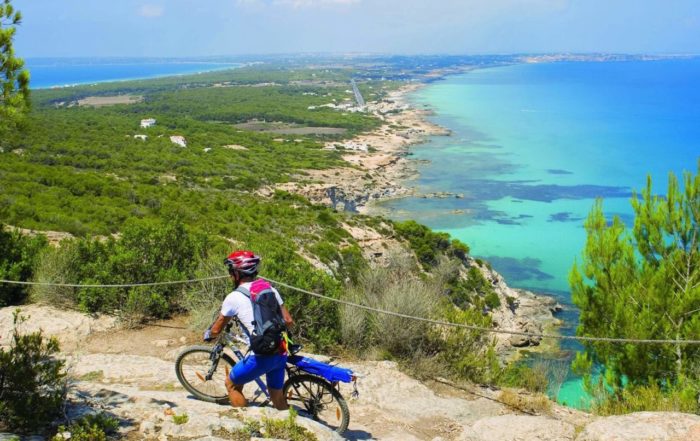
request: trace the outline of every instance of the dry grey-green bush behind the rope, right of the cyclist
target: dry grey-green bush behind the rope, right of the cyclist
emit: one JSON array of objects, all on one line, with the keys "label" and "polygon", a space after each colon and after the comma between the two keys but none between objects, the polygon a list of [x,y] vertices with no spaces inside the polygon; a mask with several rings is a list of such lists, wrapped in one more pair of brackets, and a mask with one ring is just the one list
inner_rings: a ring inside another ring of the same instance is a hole
[{"label": "dry grey-green bush behind the rope, right of the cyclist", "polygon": [[[373,308],[414,317],[489,327],[491,319],[474,308],[462,310],[443,295],[458,274],[453,262],[440,263],[435,274],[416,277],[408,255],[390,256],[388,268],[367,270],[346,299]],[[498,371],[492,340],[483,332],[443,327],[359,308],[341,307],[343,342],[350,348],[374,351],[403,361],[418,376],[449,373],[472,381],[486,381]]]}]

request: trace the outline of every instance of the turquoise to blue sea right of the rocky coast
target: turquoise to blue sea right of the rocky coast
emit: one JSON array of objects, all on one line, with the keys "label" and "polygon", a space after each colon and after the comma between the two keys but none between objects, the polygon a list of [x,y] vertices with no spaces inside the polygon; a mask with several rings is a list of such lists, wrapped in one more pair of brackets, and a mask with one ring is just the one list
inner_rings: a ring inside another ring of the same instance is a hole
[{"label": "turquoise to blue sea right of the rocky coast", "polygon": [[[700,159],[700,59],[519,64],[448,77],[413,96],[453,131],[412,148],[420,193],[381,208],[467,243],[511,286],[556,296],[563,332],[577,313],[567,275],[595,198],[632,222],[630,197],[651,174],[695,172]],[[565,356],[579,349],[565,344]],[[560,400],[576,403],[570,378]]]}]

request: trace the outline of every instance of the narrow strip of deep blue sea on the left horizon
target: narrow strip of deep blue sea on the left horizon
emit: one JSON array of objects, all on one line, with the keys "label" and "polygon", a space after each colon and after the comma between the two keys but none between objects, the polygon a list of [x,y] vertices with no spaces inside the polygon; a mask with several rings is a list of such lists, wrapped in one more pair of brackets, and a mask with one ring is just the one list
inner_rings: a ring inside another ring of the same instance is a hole
[{"label": "narrow strip of deep blue sea on the left horizon", "polygon": [[31,73],[33,89],[193,74],[241,66],[240,63],[133,58],[29,58],[25,64]]}]

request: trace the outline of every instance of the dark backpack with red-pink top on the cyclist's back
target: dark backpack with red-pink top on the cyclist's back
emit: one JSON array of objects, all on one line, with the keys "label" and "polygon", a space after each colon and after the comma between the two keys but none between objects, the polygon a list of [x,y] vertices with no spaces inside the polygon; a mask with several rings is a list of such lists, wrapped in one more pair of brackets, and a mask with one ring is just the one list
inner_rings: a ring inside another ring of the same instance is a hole
[{"label": "dark backpack with red-pink top on the cyclist's back", "polygon": [[258,279],[250,285],[250,289],[239,286],[236,291],[248,297],[253,306],[250,349],[258,355],[276,354],[284,341],[287,326],[272,286],[267,281]]}]

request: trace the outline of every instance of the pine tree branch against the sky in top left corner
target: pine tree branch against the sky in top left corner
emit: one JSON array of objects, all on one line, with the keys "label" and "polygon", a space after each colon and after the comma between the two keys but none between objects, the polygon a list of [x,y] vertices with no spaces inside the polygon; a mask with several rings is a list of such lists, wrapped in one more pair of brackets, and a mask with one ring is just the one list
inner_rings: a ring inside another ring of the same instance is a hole
[{"label": "pine tree branch against the sky in top left corner", "polygon": [[0,2],[0,133],[15,124],[29,108],[29,72],[15,56],[12,41],[22,14],[10,0]]}]

